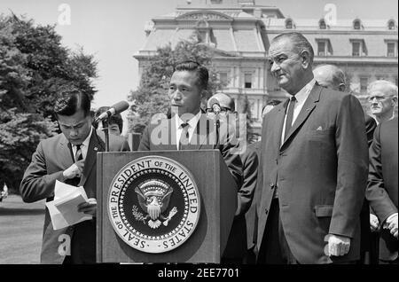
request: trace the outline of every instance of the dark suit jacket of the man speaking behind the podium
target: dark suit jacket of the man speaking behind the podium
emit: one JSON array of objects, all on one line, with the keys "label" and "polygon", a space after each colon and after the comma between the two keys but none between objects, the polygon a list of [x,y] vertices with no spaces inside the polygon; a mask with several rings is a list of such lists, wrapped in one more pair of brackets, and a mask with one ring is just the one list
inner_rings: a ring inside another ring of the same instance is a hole
[{"label": "dark suit jacket of the man speaking behind the podium", "polygon": [[[170,151],[176,150],[176,125],[174,118],[151,123],[145,128],[138,151]],[[184,145],[183,150],[210,150],[218,149],[222,153],[231,176],[237,187],[242,183],[242,163],[239,158],[239,142],[234,139],[234,131],[231,128],[221,130],[221,136],[216,142],[213,134],[214,121],[207,119],[205,114],[200,115],[197,128],[189,145]],[[221,125],[222,129],[222,125]]]}]

